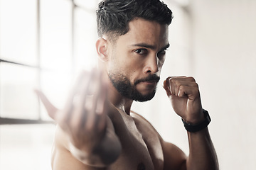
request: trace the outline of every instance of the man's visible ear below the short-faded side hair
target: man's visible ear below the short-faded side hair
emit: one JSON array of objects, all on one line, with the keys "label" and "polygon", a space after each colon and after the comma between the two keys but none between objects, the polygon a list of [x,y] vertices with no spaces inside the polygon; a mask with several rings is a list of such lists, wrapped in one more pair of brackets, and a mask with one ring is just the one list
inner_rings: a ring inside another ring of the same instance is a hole
[{"label": "man's visible ear below the short-faded side hair", "polygon": [[96,41],[96,50],[100,60],[102,60],[103,62],[107,62],[107,40],[105,40],[104,38],[98,38]]}]

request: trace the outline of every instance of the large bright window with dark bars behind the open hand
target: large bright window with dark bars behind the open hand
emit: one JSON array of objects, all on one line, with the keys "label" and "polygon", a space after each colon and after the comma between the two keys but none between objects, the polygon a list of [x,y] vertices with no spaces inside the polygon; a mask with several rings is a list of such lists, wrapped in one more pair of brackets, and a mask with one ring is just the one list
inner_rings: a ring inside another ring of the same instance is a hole
[{"label": "large bright window with dark bars behind the open hand", "polygon": [[62,107],[73,75],[95,66],[96,6],[0,0],[0,169],[50,169],[55,125],[33,89]]}]

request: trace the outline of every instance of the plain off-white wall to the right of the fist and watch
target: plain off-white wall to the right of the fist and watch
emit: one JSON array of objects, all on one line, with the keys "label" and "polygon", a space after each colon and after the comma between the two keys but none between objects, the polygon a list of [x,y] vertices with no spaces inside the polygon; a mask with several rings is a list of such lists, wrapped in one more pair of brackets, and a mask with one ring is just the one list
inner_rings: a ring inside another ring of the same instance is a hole
[{"label": "plain off-white wall to the right of the fist and watch", "polygon": [[256,169],[256,1],[193,0],[193,70],[221,169]]}]

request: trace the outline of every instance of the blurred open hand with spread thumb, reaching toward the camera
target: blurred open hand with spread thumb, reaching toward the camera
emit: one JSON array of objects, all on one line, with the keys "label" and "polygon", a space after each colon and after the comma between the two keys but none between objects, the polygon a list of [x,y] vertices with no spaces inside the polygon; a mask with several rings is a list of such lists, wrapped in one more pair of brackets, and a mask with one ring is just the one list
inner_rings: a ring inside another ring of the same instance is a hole
[{"label": "blurred open hand with spread thumb, reaching toward the camera", "polygon": [[72,145],[87,154],[93,152],[105,137],[110,122],[107,113],[111,105],[107,101],[107,84],[102,72],[96,69],[82,72],[63,110],[55,108],[41,91],[36,93],[50,117],[68,134]]}]

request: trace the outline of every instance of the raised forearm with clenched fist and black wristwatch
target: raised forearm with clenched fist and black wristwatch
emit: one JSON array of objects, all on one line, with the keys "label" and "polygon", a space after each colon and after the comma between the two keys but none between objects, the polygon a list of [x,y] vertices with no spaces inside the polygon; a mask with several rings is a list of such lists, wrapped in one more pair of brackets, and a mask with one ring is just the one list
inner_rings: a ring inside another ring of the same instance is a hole
[{"label": "raised forearm with clenched fist and black wristwatch", "polygon": [[193,77],[168,77],[164,81],[164,89],[188,130],[190,152],[186,169],[218,170],[218,159],[207,128],[210,116],[202,109],[196,80]]}]

